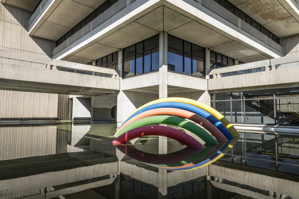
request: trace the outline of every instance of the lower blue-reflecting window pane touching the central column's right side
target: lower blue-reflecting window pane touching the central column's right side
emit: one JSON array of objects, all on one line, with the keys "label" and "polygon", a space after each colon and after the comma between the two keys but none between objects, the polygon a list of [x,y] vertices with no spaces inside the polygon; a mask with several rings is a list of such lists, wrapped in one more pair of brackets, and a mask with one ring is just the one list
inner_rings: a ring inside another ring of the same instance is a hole
[{"label": "lower blue-reflecting window pane touching the central column's right side", "polygon": [[168,48],[168,70],[183,73],[183,52]]}]

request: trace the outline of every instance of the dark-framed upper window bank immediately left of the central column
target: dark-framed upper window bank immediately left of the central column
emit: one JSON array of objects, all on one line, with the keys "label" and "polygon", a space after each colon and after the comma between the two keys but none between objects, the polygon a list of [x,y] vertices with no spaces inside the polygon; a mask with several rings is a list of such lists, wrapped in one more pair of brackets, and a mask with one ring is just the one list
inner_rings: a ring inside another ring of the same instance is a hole
[{"label": "dark-framed upper window bank immediately left of the central column", "polygon": [[159,36],[123,49],[123,77],[159,70]]}]

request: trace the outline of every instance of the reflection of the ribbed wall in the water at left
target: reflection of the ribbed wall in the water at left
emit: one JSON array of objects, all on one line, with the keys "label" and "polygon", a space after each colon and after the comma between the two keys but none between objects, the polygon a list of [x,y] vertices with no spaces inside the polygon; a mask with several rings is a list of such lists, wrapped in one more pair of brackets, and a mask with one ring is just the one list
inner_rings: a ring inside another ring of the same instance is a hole
[{"label": "reflection of the ribbed wall in the water at left", "polygon": [[67,152],[71,124],[0,126],[0,161]]}]

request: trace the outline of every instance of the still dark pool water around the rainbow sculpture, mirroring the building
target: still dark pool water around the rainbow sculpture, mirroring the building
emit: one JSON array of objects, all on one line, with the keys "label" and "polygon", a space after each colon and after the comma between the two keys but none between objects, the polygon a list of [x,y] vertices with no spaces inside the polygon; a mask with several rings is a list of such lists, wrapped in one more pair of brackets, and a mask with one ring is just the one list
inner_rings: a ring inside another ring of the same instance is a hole
[{"label": "still dark pool water around the rainbow sculpture, mirroring the building", "polygon": [[[115,124],[0,126],[0,198],[299,196],[297,135],[239,132],[233,148],[214,163],[169,171],[161,164],[149,165],[142,155],[133,159],[116,149],[109,137],[115,131]],[[163,157],[156,136],[132,144],[152,154],[151,163]],[[167,153],[174,156],[161,160],[173,164],[172,158],[181,158],[177,153],[186,151],[190,152],[168,138]]]}]

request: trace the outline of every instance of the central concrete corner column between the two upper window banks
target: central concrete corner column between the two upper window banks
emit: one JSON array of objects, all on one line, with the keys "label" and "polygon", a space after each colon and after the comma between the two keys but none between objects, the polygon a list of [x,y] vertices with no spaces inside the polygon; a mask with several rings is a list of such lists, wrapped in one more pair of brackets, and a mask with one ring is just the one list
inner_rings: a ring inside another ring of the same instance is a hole
[{"label": "central concrete corner column between the two upper window banks", "polygon": [[167,32],[159,33],[159,99],[167,97]]}]

